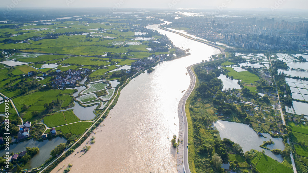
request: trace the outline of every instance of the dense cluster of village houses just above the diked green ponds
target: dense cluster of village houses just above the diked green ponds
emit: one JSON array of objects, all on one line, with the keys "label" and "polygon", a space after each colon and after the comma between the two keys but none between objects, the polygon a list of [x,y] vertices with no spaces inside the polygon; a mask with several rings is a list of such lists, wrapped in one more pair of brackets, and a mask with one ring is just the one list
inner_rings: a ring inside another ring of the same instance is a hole
[{"label": "dense cluster of village houses just above the diked green ponds", "polygon": [[[60,70],[60,69],[58,69]],[[72,70],[69,69],[66,71],[66,74],[64,75],[57,75],[55,77],[55,80],[52,83],[52,87],[61,87],[61,86],[75,86],[77,85],[76,81],[82,80],[81,74],[86,74],[87,72],[90,72],[89,68],[86,68],[85,70]]]}]

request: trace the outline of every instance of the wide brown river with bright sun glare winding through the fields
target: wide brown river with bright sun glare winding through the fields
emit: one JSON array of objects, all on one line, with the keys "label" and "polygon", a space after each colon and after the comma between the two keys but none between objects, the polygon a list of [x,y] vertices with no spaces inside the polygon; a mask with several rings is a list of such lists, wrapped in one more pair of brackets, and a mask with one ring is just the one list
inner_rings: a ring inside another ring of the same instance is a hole
[{"label": "wide brown river with bright sun glare winding through the fields", "polygon": [[71,172],[177,172],[176,149],[170,141],[173,135],[178,136],[178,102],[190,82],[186,67],[220,51],[158,25],[147,28],[166,34],[176,47],[189,48],[191,55],[161,62],[152,73],[130,81],[107,118],[93,131],[96,142],[91,149],[84,155],[77,153],[89,145],[88,138],[52,172],[63,172],[68,163],[74,165]]}]

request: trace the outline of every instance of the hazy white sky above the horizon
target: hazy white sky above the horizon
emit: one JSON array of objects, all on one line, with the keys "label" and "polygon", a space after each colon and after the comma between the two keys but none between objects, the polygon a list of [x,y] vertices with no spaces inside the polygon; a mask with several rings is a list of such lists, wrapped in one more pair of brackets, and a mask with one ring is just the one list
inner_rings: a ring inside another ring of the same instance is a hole
[{"label": "hazy white sky above the horizon", "polygon": [[[15,3],[15,4],[14,4]],[[0,0],[0,7],[113,8],[295,8],[308,10],[308,0]]]}]

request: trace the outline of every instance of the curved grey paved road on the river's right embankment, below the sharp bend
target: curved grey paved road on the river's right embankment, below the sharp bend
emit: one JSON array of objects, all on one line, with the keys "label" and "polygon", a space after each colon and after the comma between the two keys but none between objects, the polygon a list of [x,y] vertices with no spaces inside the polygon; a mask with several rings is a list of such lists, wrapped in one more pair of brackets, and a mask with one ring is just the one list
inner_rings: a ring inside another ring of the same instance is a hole
[{"label": "curved grey paved road on the river's right embankment, below the sharp bend", "polygon": [[[223,59],[223,58],[218,58],[218,59]],[[209,60],[206,62],[215,61],[218,59],[213,59],[213,60]],[[185,104],[186,104],[186,101],[189,95],[192,93],[196,85],[196,76],[193,73],[193,70],[191,69],[191,67],[198,65],[198,64],[202,64],[202,63],[204,62],[199,62],[199,63],[193,64],[187,67],[187,71],[190,76],[190,84],[189,84],[188,90],[185,92],[184,96],[180,99],[179,106],[178,106],[179,118],[182,118],[184,120],[184,128],[183,128],[184,136],[182,137],[183,138],[183,169],[184,169],[184,172],[187,172],[187,173],[190,173],[190,170],[189,170],[189,165],[188,165],[188,124],[187,124],[187,117],[186,117],[186,112],[185,112]],[[181,140],[181,136],[179,136],[179,138]],[[182,172],[182,170],[179,170],[179,169],[178,171]]]}]

